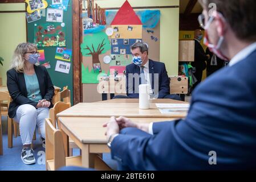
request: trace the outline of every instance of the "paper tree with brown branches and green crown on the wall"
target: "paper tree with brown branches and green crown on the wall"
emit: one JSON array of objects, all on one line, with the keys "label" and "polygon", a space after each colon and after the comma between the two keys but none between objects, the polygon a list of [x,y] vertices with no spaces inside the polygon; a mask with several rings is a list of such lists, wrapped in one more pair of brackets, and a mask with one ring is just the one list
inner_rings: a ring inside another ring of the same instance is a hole
[{"label": "paper tree with brown branches and green crown on the wall", "polygon": [[83,56],[92,56],[92,64],[100,63],[99,55],[111,49],[108,36],[105,32],[88,34],[84,36],[83,43],[80,46]]}]

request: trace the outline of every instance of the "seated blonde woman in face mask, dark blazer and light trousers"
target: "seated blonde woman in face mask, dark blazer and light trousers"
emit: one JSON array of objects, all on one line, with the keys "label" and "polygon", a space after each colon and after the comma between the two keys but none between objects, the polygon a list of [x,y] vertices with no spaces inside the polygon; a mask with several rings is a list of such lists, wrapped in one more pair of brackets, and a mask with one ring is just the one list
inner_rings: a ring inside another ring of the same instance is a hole
[{"label": "seated blonde woman in face mask, dark blazer and light trousers", "polygon": [[21,159],[25,164],[34,164],[31,143],[36,126],[45,147],[44,119],[49,117],[49,108],[54,96],[54,86],[46,68],[35,65],[39,54],[31,43],[21,43],[14,51],[11,69],[7,71],[7,88],[12,102],[8,114],[19,123],[23,144]]}]

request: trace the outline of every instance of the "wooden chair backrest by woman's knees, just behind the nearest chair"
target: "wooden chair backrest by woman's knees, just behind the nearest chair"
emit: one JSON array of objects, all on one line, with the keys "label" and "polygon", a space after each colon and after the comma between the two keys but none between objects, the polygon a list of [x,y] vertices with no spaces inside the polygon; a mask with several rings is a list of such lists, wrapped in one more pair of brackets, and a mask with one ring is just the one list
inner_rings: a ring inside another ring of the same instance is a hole
[{"label": "wooden chair backrest by woman's knees, just behind the nearest chair", "polygon": [[[69,103],[64,103],[64,102],[56,102],[56,104],[54,105],[54,107],[52,107],[50,109],[50,118],[51,118],[51,121],[52,121],[52,125],[56,128],[56,115],[60,112],[62,112],[63,110],[66,110],[68,108],[70,108],[70,102]],[[57,121],[58,123],[58,121]],[[58,123],[58,126],[59,126],[59,123]]]}]

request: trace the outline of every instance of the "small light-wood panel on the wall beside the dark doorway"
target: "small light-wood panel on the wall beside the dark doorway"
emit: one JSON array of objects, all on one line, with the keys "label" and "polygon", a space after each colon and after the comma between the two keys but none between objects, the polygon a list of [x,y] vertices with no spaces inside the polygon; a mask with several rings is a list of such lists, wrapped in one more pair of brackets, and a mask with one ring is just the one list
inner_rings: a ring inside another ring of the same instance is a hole
[{"label": "small light-wood panel on the wall beside the dark doorway", "polygon": [[194,61],[194,40],[180,40],[178,42],[178,61]]}]

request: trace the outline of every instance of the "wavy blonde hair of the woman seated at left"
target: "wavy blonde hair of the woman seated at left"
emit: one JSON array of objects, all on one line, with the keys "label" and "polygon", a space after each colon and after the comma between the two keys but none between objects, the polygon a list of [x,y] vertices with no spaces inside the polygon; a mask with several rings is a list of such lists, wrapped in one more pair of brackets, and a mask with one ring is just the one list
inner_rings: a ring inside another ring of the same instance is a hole
[{"label": "wavy blonde hair of the woman seated at left", "polygon": [[11,61],[11,68],[14,68],[18,73],[23,73],[24,72],[24,55],[33,50],[36,49],[37,51],[37,47],[35,46],[35,44],[32,43],[21,43],[17,46],[17,48],[14,51],[13,54],[13,59]]}]

